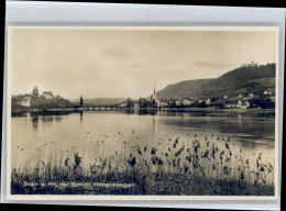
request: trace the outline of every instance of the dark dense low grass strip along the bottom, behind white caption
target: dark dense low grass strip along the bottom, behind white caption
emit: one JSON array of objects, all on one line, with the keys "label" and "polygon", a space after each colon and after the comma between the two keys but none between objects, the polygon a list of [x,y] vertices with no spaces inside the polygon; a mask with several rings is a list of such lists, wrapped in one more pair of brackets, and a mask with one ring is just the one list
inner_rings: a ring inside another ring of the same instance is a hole
[{"label": "dark dense low grass strip along the bottom, behind white caption", "polygon": [[[53,171],[54,180],[25,175],[26,186],[12,177],[12,195],[162,195],[162,196],[274,196],[273,186],[254,186],[243,180],[217,180],[185,174],[148,174],[131,170],[85,176],[79,171]],[[35,186],[35,182],[38,185]],[[127,185],[127,187],[124,187]],[[108,187],[110,186],[110,187]]]}]

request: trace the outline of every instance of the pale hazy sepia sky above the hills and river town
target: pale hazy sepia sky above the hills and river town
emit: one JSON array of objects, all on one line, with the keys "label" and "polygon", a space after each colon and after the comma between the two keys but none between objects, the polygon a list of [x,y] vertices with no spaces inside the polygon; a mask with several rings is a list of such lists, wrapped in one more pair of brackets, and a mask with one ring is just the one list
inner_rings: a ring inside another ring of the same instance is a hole
[{"label": "pale hazy sepia sky above the hills and river town", "polygon": [[217,78],[241,64],[276,62],[274,31],[15,27],[11,92],[67,99],[139,98],[184,80]]}]

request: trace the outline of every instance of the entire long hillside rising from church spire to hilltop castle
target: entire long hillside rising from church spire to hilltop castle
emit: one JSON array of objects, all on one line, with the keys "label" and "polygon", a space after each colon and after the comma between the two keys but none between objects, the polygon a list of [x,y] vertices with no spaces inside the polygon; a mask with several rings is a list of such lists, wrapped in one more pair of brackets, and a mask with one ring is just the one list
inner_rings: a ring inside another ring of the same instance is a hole
[{"label": "entire long hillside rising from church spire to hilltop castle", "polygon": [[228,95],[235,97],[240,93],[260,93],[263,90],[275,92],[275,64],[258,67],[240,67],[216,79],[185,80],[169,85],[157,92],[158,98],[193,99],[221,97]]}]

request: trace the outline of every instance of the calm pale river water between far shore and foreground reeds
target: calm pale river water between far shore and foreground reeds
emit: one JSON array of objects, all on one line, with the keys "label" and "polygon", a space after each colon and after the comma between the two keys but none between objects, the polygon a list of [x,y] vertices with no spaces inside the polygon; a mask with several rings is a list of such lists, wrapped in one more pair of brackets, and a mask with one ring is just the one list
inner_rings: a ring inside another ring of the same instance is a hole
[{"label": "calm pale river water between far shore and foreground reeds", "polygon": [[[233,152],[248,158],[262,153],[264,163],[274,164],[275,118],[257,113],[84,111],[75,113],[22,113],[11,120],[12,166],[45,159],[50,153],[70,156],[78,152],[82,165],[96,156],[110,158],[129,154],[132,147],[156,147],[163,153],[177,137],[190,146],[191,140],[227,140]],[[128,143],[128,144],[123,144]],[[102,145],[103,144],[103,145]],[[101,147],[101,148],[100,148]]]}]

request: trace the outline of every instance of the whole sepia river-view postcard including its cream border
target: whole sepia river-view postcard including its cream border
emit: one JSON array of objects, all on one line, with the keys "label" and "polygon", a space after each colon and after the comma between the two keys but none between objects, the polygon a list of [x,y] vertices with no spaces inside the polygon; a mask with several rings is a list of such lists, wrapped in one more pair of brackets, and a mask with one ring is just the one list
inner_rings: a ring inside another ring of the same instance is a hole
[{"label": "whole sepia river-view postcard including its cream border", "polygon": [[8,199],[276,199],[277,26],[10,26]]}]

